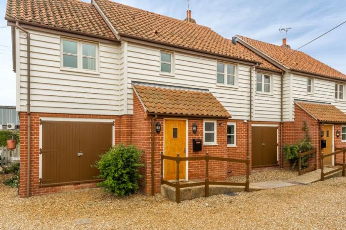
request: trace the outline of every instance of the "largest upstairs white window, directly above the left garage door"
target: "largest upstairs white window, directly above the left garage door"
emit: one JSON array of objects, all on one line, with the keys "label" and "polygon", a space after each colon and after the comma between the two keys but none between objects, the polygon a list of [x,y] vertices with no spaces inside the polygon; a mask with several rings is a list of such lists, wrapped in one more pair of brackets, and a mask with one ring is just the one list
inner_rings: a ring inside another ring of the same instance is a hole
[{"label": "largest upstairs white window, directly above the left garage door", "polygon": [[61,67],[83,71],[97,71],[97,44],[63,38]]}]

